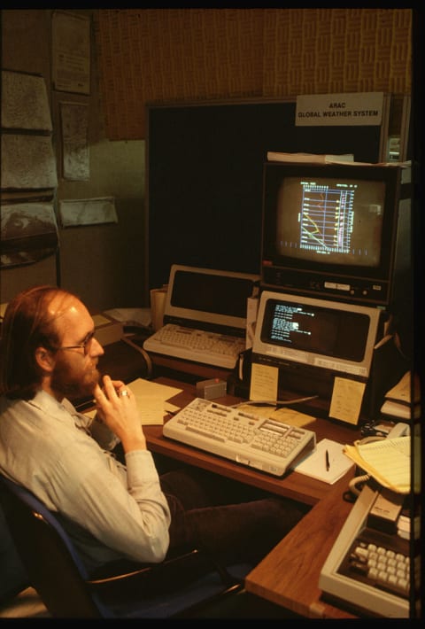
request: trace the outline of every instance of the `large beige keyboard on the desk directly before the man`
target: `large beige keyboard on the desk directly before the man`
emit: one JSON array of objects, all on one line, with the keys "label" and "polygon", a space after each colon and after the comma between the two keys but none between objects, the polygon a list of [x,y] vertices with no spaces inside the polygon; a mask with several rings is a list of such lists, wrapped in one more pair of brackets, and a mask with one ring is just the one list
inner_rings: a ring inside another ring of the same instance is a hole
[{"label": "large beige keyboard on the desk directly before the man", "polygon": [[202,398],[166,422],[163,434],[279,477],[316,443],[313,431]]}]

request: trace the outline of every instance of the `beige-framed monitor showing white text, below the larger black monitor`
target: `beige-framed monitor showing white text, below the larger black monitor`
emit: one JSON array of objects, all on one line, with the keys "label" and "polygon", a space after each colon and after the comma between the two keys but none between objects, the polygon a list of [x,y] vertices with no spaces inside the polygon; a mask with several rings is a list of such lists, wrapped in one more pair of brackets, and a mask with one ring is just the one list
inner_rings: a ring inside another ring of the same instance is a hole
[{"label": "beige-framed monitor showing white text, below the larger black monitor", "polygon": [[253,352],[276,361],[368,377],[381,311],[263,291]]}]

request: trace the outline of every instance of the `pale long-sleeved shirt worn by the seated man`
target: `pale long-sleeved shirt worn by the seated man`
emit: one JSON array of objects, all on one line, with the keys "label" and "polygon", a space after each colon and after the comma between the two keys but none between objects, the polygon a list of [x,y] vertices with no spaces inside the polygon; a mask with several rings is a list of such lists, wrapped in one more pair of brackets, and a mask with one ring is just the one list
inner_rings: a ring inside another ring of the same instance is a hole
[{"label": "pale long-sleeved shirt worn by the seated man", "polygon": [[160,562],[170,510],[148,450],[110,452],[104,424],[39,391],[33,400],[0,398],[0,470],[26,486],[65,524],[88,568],[127,558]]}]

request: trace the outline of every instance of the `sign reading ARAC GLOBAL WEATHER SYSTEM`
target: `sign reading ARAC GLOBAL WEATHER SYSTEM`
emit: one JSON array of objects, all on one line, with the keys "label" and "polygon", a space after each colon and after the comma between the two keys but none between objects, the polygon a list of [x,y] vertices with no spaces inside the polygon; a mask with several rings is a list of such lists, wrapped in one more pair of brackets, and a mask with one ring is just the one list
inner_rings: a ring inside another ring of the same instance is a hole
[{"label": "sign reading ARAC GLOBAL WEATHER SYSTEM", "polygon": [[378,126],[382,120],[383,92],[297,97],[296,127]]}]

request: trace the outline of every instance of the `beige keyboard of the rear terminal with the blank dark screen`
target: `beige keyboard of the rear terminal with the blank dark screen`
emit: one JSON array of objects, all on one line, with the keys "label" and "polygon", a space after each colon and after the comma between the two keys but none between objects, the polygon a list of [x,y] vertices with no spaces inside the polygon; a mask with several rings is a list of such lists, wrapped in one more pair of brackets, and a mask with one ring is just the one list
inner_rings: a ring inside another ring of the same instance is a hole
[{"label": "beige keyboard of the rear terminal with the blank dark screen", "polygon": [[144,341],[143,349],[214,367],[234,369],[237,357],[245,349],[245,339],[166,323]]}]

